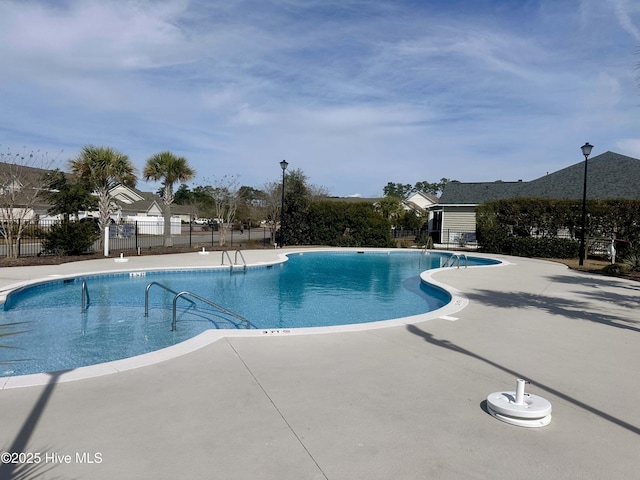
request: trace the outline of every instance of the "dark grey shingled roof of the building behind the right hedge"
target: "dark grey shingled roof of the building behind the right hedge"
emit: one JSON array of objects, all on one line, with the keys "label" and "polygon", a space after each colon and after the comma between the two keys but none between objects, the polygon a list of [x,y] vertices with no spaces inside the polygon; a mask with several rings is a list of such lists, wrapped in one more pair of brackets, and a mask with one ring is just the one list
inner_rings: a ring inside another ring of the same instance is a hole
[{"label": "dark grey shingled roof of the building behind the right hedge", "polygon": [[[508,198],[582,199],[585,162],[530,182],[448,183],[440,204],[478,205]],[[605,152],[587,162],[588,199],[640,200],[640,160]]]}]

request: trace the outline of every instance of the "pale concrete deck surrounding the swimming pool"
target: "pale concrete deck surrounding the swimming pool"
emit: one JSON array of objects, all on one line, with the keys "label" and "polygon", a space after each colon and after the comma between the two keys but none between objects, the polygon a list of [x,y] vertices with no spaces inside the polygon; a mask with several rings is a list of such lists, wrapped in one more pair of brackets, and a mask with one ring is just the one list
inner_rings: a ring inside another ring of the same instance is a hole
[{"label": "pale concrete deck surrounding the swimming pool", "polygon": [[[214,255],[3,268],[0,289]],[[225,337],[112,375],[0,390],[0,450],[40,454],[0,465],[0,480],[638,478],[640,284],[497,258],[510,263],[434,273],[468,305],[428,321]],[[518,377],[551,402],[549,426],[486,413],[487,395]]]}]

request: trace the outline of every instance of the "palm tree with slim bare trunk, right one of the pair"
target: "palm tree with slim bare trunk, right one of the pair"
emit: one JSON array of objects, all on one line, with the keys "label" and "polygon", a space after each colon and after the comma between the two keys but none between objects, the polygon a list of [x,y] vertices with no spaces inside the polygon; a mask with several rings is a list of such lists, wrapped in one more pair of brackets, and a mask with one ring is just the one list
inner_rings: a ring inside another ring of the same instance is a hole
[{"label": "palm tree with slim bare trunk, right one of the pair", "polygon": [[164,203],[164,246],[172,247],[171,239],[171,204],[173,203],[173,186],[177,183],[185,183],[191,180],[196,174],[195,170],[189,166],[187,159],[177,157],[169,151],[156,153],[147,160],[142,176],[145,181],[162,181],[164,193],[162,195]]}]

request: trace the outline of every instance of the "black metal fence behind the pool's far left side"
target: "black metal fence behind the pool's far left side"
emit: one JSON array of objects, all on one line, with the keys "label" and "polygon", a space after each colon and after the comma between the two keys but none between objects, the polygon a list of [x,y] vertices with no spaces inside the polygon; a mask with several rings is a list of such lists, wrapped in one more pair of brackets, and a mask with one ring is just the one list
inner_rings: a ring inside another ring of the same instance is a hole
[{"label": "black metal fence behind the pool's far left side", "polygon": [[[13,250],[13,255],[18,257],[30,257],[48,255],[50,252],[43,250],[43,241],[51,229],[51,226],[58,223],[57,220],[40,220],[39,222],[26,222],[18,228],[14,224],[11,232],[8,232],[8,225],[0,225],[0,257],[9,255]],[[208,226],[195,224],[181,224],[179,231],[177,225],[173,224],[171,238],[173,245],[178,247],[217,247],[220,244],[221,230],[214,230]],[[96,227],[97,229],[97,227]],[[99,253],[104,248],[99,230],[96,230],[96,241],[91,251],[87,253]],[[18,237],[19,234],[19,237]],[[13,248],[8,245],[9,238],[12,237]],[[268,228],[229,228],[224,232],[225,247],[253,244],[268,245],[271,241]],[[157,221],[135,221],[114,223],[109,227],[108,249],[110,252],[142,251],[151,248],[159,248],[164,245],[164,225]]]}]

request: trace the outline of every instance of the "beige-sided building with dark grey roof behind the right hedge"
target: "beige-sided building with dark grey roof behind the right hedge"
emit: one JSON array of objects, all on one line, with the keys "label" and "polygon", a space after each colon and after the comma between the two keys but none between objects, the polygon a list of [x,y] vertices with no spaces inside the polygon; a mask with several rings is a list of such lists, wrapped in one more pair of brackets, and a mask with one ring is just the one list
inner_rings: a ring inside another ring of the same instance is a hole
[{"label": "beige-sided building with dark grey roof behind the right hedge", "polygon": [[[605,152],[588,160],[587,199],[640,200],[640,160]],[[530,182],[448,183],[440,202],[430,207],[436,243],[474,242],[476,207],[509,198],[582,200],[585,162],[579,162]]]}]

